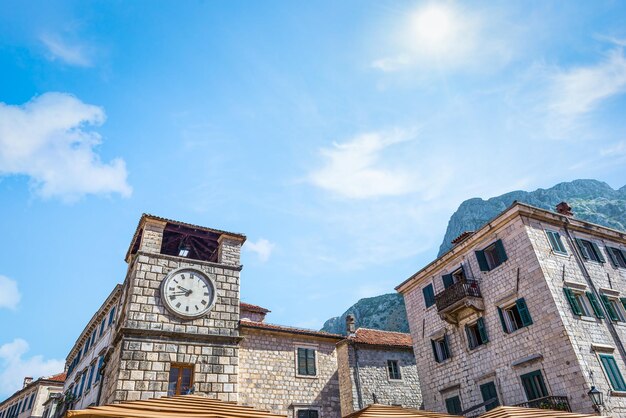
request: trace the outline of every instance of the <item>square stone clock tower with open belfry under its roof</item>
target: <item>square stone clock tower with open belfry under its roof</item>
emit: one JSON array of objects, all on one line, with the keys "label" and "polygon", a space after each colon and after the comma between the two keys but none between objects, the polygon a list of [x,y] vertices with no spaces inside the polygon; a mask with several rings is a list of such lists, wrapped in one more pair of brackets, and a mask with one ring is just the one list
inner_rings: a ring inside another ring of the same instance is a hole
[{"label": "square stone clock tower with open belfry under its roof", "polygon": [[101,404],[187,393],[237,401],[245,239],[141,217],[126,254]]}]

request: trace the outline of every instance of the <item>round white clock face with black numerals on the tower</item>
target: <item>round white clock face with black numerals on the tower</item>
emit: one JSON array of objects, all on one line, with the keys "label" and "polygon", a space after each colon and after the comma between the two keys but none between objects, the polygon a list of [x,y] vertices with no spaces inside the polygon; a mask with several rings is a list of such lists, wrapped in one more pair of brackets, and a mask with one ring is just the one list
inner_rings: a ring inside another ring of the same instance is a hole
[{"label": "round white clock face with black numerals on the tower", "polygon": [[172,271],[161,283],[165,306],[183,318],[206,314],[215,300],[215,286],[201,271],[181,268]]}]

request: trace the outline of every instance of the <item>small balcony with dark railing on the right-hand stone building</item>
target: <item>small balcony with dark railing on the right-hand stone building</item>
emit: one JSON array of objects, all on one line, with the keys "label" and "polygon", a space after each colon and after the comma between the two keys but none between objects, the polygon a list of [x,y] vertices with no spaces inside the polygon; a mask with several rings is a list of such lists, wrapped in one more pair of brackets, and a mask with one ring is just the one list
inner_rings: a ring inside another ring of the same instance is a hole
[{"label": "small balcony with dark railing on the right-hand stone building", "polygon": [[485,310],[478,281],[474,279],[460,280],[448,286],[435,295],[435,304],[441,319],[451,324],[458,324],[462,318]]}]

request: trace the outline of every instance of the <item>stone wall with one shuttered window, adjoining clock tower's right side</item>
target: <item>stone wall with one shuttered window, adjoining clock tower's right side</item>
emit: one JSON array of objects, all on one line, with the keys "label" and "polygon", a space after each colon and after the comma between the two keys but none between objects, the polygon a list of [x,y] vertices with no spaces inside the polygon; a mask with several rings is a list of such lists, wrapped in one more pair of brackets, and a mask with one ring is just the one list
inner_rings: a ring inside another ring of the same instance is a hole
[{"label": "stone wall with one shuttered window, adjoining clock tower's right side", "polygon": [[[242,329],[239,400],[293,418],[299,408],[319,409],[320,418],[339,418],[336,339]],[[317,375],[298,376],[296,350],[316,349]]]}]

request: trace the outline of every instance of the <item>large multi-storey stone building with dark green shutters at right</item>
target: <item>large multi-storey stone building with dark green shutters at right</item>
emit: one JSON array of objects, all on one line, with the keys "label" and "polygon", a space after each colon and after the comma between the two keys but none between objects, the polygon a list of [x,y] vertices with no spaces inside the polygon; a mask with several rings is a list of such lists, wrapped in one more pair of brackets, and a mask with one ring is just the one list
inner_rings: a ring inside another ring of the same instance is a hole
[{"label": "large multi-storey stone building with dark green shutters at right", "polygon": [[521,203],[397,287],[427,410],[626,416],[626,233]]}]

